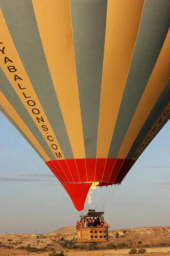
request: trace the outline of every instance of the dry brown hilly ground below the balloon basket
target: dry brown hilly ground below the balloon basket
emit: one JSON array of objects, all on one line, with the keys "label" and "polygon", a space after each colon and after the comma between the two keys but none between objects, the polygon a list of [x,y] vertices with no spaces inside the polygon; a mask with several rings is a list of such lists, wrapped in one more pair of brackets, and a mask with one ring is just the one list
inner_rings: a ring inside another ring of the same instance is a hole
[{"label": "dry brown hilly ground below the balloon basket", "polygon": [[[75,239],[75,226],[62,227],[47,234],[11,234],[0,236],[0,256],[14,256],[14,255],[31,255],[31,256],[48,256],[48,253],[53,250],[60,252],[61,250],[67,252],[68,256],[109,256],[109,255],[127,255],[131,248],[145,247],[147,253],[154,255],[169,255],[170,256],[170,227],[142,227],[122,230],[108,230],[109,241],[107,243],[100,243],[98,246],[100,250],[84,251],[80,249],[62,248],[61,243],[64,240]],[[119,238],[115,238],[116,232],[119,233]],[[138,244],[141,241],[142,244]],[[125,243],[127,247],[124,249],[103,250],[108,243],[118,244]],[[163,244],[162,244],[163,243]],[[20,250],[20,246],[43,248],[47,247],[45,252],[30,253],[27,250]],[[161,246],[163,247],[160,247]],[[169,247],[164,247],[167,244]],[[147,246],[146,246],[147,245]],[[8,247],[11,247],[10,249]],[[149,246],[149,247],[148,247]]]}]

